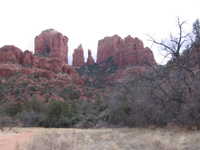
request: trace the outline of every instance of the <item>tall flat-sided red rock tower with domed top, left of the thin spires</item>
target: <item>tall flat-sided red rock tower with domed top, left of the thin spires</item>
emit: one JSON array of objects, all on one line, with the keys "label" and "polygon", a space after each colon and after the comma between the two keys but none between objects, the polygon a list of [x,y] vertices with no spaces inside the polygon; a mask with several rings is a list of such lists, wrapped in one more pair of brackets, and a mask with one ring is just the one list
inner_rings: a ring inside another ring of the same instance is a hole
[{"label": "tall flat-sided red rock tower with domed top, left of the thin spires", "polygon": [[53,29],[43,31],[35,38],[35,54],[56,57],[68,63],[68,38]]}]

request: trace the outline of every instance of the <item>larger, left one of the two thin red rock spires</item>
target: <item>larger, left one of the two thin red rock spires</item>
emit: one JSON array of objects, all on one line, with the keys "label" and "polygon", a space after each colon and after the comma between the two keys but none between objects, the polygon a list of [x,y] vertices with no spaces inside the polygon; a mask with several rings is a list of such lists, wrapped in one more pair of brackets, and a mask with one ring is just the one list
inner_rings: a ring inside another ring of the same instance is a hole
[{"label": "larger, left one of the two thin red rock spires", "polygon": [[83,48],[82,48],[82,45],[79,45],[79,47],[74,50],[72,65],[75,66],[75,67],[81,67],[84,64],[85,63],[84,63]]}]

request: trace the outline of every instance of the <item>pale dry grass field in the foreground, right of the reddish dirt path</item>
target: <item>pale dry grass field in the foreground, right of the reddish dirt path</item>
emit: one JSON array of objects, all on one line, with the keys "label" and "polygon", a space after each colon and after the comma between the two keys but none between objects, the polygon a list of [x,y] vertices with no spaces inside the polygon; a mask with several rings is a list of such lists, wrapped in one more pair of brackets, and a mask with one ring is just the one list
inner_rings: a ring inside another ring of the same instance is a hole
[{"label": "pale dry grass field in the foreground, right of the reddish dirt path", "polygon": [[169,129],[39,129],[18,150],[199,150],[200,132]]}]

